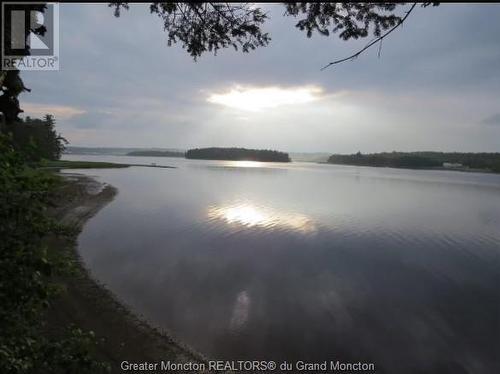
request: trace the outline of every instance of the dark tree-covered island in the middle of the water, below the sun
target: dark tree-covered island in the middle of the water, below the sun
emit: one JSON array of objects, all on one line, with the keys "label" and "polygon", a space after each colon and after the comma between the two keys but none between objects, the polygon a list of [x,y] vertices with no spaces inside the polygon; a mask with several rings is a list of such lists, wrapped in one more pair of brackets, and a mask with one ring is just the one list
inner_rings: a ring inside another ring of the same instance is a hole
[{"label": "dark tree-covered island in the middle of the water, below the sun", "polygon": [[195,148],[186,152],[186,158],[198,160],[290,162],[288,153],[268,149]]}]

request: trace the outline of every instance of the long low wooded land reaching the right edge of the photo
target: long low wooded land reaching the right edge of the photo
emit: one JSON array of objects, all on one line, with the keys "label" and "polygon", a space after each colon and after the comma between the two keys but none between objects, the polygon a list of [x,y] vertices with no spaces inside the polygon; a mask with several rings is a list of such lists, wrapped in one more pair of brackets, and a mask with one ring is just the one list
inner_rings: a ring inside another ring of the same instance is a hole
[{"label": "long low wooded land reaching the right edge of the photo", "polygon": [[406,169],[443,168],[500,173],[500,153],[461,152],[361,152],[328,158],[330,164],[393,167]]}]

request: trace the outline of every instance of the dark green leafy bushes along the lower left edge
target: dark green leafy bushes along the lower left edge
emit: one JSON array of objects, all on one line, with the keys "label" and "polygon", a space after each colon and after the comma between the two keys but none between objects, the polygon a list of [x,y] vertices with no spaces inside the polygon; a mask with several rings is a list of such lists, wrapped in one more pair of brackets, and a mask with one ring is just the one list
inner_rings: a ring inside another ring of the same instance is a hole
[{"label": "dark green leafy bushes along the lower left edge", "polygon": [[[0,373],[94,373],[92,335],[70,329],[62,340],[42,333],[42,313],[55,294],[42,239],[60,233],[47,217],[58,178],[26,165],[12,140],[0,135]],[[56,262],[57,261],[57,262]],[[64,265],[64,264],[62,264]]]}]

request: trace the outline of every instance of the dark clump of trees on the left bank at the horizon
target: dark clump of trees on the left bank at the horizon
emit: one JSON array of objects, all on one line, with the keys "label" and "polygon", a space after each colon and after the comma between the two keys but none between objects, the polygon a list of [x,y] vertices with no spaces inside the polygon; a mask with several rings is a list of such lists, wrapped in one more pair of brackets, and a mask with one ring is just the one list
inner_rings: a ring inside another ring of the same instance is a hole
[{"label": "dark clump of trees on the left bank at the horizon", "polygon": [[58,160],[68,142],[57,133],[55,124],[50,114],[43,119],[26,117],[7,125],[7,132],[12,136],[14,148],[28,161]]}]

